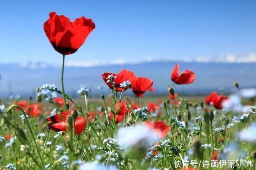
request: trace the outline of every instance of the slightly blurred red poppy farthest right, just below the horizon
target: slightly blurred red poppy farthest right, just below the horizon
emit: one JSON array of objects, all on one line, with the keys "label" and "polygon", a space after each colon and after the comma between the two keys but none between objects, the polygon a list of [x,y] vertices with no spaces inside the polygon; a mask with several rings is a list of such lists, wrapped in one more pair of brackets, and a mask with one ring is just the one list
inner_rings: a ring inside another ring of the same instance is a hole
[{"label": "slightly blurred red poppy farthest right, just below the horizon", "polygon": [[216,109],[222,109],[223,102],[225,100],[228,100],[227,96],[224,96],[224,95],[218,96],[216,92],[213,92],[212,94],[210,94],[209,96],[206,96],[205,98],[206,104],[208,105],[212,104]]}]

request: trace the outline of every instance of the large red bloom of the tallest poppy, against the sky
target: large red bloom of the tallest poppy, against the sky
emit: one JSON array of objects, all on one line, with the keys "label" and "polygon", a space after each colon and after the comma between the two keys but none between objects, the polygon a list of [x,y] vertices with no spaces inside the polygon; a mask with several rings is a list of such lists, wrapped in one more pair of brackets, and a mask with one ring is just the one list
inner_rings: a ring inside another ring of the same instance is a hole
[{"label": "large red bloom of the tallest poppy, against the sky", "polygon": [[50,18],[44,23],[44,32],[50,43],[63,55],[75,53],[94,28],[91,19],[81,17],[71,22],[66,16],[58,16],[56,12],[51,12]]}]

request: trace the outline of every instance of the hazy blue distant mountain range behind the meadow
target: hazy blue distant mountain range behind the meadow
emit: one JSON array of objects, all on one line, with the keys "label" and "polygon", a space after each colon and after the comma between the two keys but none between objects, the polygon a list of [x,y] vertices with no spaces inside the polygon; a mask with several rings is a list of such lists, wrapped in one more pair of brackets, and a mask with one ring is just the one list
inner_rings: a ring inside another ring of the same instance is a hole
[{"label": "hazy blue distant mountain range behind the meadow", "polygon": [[[171,85],[170,74],[174,61],[148,61],[144,63],[102,65],[91,67],[65,67],[64,83],[68,94],[76,96],[81,85],[92,90],[92,95],[106,93],[108,87],[101,78],[103,72],[119,72],[122,69],[133,71],[137,76],[145,76],[154,80],[156,95],[166,93],[167,85]],[[230,90],[234,80],[243,88],[256,87],[256,63],[196,63],[178,62],[180,72],[193,70],[196,80],[188,85],[176,85],[174,88],[181,94],[203,95],[223,88]],[[60,84],[61,68],[48,63],[0,64],[0,98],[10,94],[22,97],[34,96],[36,87],[42,84]],[[102,86],[99,90],[97,87]]]}]

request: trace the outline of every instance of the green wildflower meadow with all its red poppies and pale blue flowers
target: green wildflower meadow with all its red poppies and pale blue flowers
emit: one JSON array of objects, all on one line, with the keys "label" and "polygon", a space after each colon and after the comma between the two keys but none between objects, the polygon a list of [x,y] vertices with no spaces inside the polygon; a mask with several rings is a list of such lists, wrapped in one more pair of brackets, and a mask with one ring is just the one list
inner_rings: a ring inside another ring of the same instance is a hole
[{"label": "green wildflower meadow with all its red poppies and pale blue flowers", "polygon": [[1,100],[0,170],[256,169],[256,92],[239,82],[230,94],[186,98],[176,89],[197,75],[177,63],[166,70],[164,96],[147,96],[154,80],[123,68],[98,75],[108,93],[92,99],[78,86],[80,98],[70,97],[65,59],[96,24],[50,13],[43,30],[62,62],[62,86],[45,82],[30,99]]}]

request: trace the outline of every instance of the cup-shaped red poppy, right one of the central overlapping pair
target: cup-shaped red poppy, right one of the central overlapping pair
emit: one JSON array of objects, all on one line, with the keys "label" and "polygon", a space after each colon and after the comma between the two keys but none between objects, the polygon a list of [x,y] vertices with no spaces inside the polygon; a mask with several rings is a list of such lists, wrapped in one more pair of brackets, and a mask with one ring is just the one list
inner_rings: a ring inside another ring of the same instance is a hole
[{"label": "cup-shaped red poppy, right one of the central overlapping pair", "polygon": [[132,81],[132,92],[136,96],[142,96],[153,85],[153,80],[144,77],[138,77]]}]

